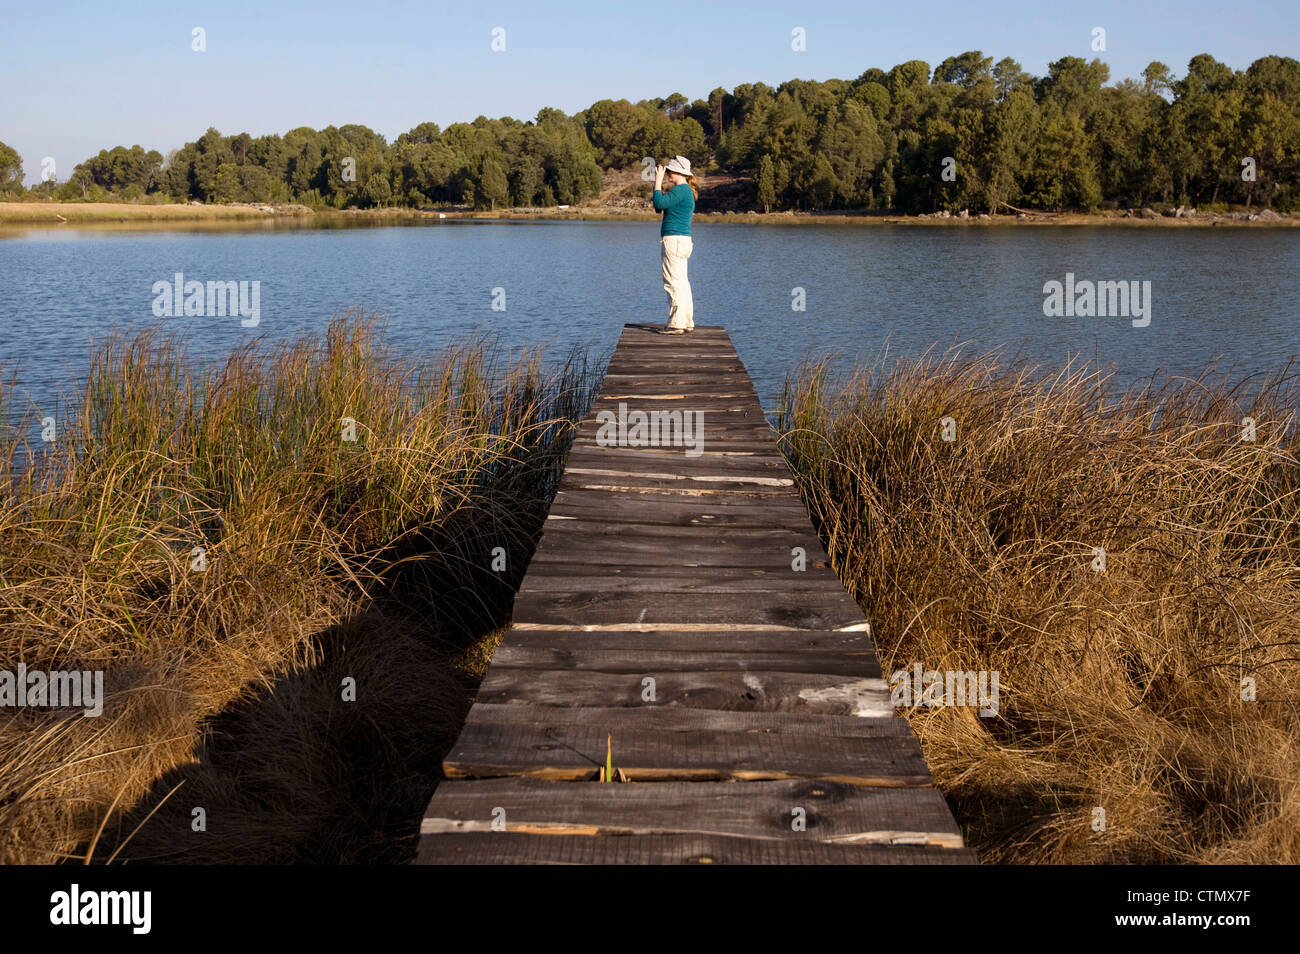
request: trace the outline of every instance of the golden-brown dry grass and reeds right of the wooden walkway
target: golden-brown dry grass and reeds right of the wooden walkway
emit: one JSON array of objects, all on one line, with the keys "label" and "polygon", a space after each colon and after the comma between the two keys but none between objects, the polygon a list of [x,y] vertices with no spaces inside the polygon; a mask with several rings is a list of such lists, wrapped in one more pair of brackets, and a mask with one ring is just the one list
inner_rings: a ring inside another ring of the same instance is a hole
[{"label": "golden-brown dry grass and reeds right of the wooden walkway", "polygon": [[959,352],[788,380],[783,447],[887,675],[1000,672],[997,717],[907,712],[984,859],[1300,862],[1294,383]]}]

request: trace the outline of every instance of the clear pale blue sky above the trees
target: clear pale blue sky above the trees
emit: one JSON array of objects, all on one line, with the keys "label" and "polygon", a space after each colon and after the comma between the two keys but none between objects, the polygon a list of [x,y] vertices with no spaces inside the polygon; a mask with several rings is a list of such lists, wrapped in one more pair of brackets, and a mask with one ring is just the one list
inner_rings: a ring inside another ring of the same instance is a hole
[{"label": "clear pale blue sky above the trees", "polygon": [[[1235,69],[1300,56],[1295,0],[1063,3],[441,4],[407,0],[8,0],[0,31],[0,142],[29,182],[43,156],[60,179],[101,148],[166,152],[208,126],[283,133],[359,122],[390,140],[417,122],[532,118],[597,99],[784,79],[852,79],[905,60],[931,66],[967,49],[1034,73],[1062,56],[1100,57],[1112,81],[1152,60],[1182,75],[1208,52]],[[1106,52],[1092,30],[1106,30]],[[205,31],[207,51],[191,49]],[[494,27],[506,51],[491,51]],[[802,27],[807,49],[790,48]]]}]

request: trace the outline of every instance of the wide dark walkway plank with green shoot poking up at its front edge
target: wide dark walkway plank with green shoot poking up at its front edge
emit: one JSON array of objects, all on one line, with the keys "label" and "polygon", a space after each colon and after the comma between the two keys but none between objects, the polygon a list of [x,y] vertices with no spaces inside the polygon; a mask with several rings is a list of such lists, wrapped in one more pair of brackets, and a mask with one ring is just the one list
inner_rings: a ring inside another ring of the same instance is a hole
[{"label": "wide dark walkway plank with green shoot poking up at its front edge", "polygon": [[[448,779],[519,776],[594,781],[611,733],[581,725],[467,723],[442,762]],[[629,781],[823,779],[850,785],[930,785],[914,738],[833,738],[738,733],[642,732],[612,740],[614,764]]]}]

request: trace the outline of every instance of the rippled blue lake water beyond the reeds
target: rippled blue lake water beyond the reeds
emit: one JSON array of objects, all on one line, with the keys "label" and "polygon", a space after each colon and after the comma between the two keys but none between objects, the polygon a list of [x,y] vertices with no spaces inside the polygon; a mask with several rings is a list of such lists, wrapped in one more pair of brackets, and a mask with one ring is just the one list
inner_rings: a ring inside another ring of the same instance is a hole
[{"label": "rippled blue lake water beyond the reeds", "polygon": [[[1300,351],[1300,233],[1273,229],[835,227],[697,224],[696,322],[724,325],[764,407],[806,355],[845,365],[963,343],[1135,380],[1221,359],[1248,373]],[[153,283],[260,282],[260,321],[156,318]],[[1045,317],[1044,282],[1149,281],[1150,322]],[[607,355],[625,321],[666,318],[654,222],[438,222],[350,229],[0,233],[0,365],[51,408],[114,328],[165,322],[198,357],[318,334],[350,305],[412,352],[474,330]],[[506,311],[493,311],[504,289]],[[806,311],[792,309],[803,289]]]}]

